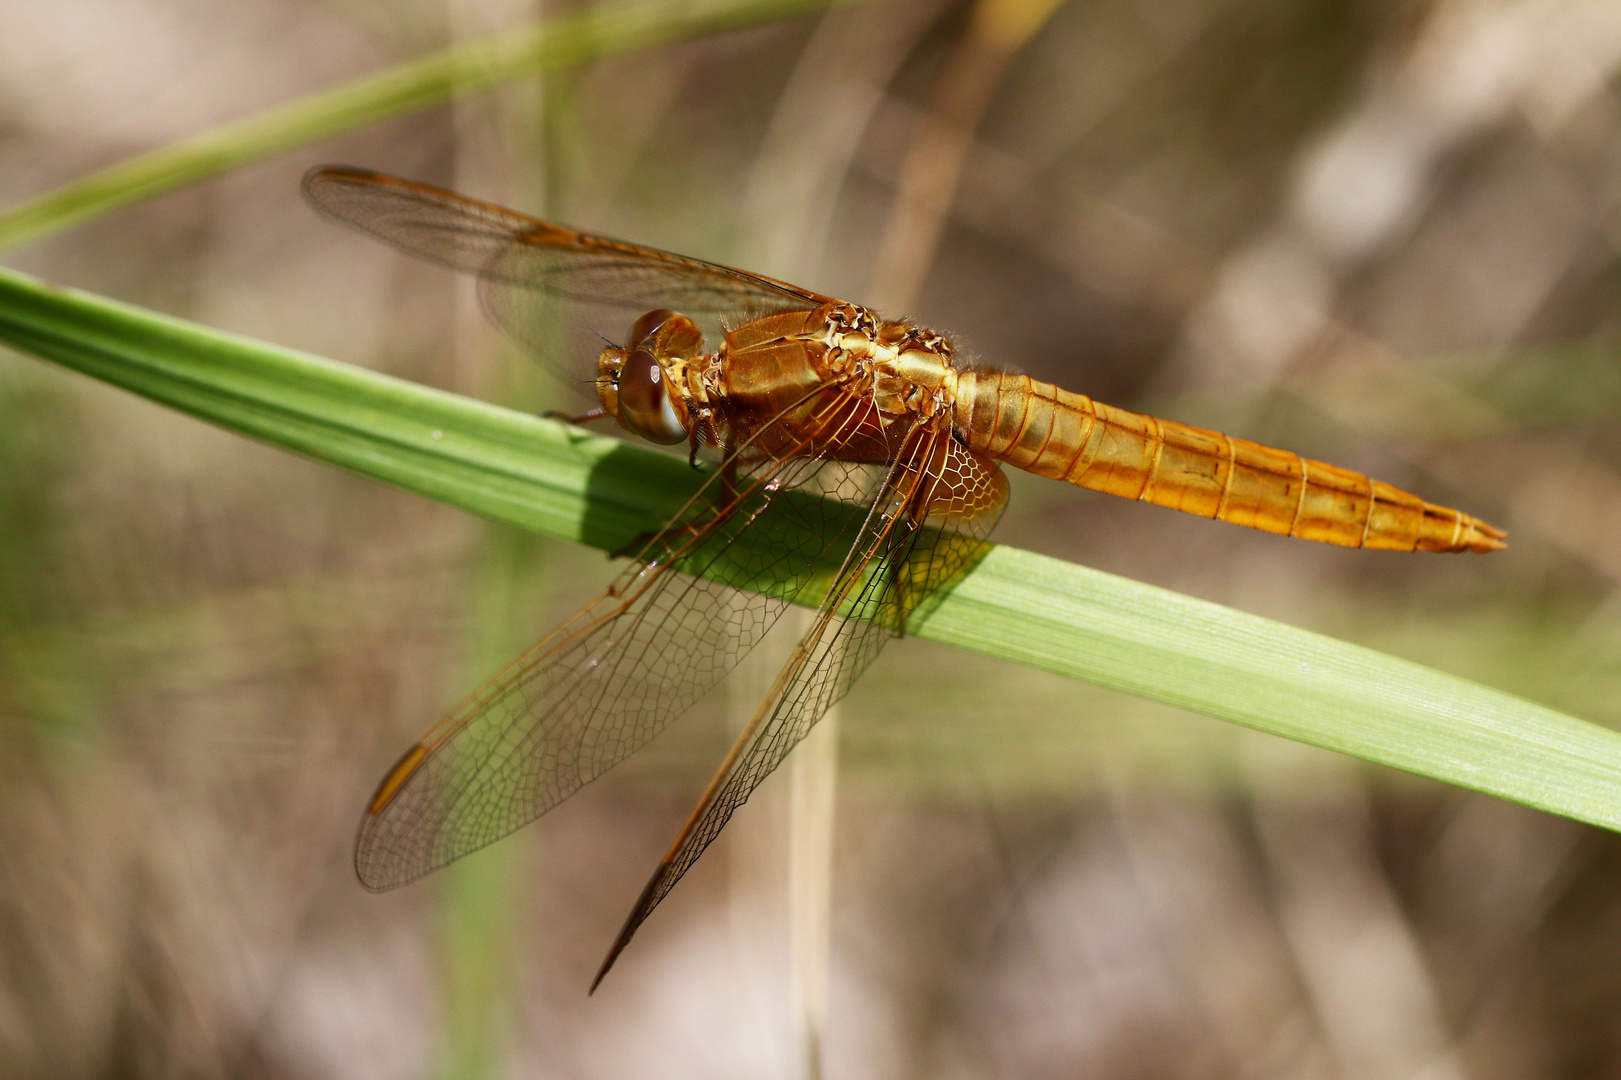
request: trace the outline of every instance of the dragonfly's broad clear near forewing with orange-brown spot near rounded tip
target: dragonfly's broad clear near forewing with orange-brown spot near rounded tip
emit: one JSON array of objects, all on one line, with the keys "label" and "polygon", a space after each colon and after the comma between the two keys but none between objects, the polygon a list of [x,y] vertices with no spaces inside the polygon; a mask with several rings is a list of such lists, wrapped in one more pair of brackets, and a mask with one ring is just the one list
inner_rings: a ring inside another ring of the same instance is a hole
[{"label": "dragonfly's broad clear near forewing with orange-brown spot near rounded tip", "polygon": [[[823,426],[838,430],[856,407],[835,397]],[[746,452],[601,597],[389,770],[355,845],[368,889],[404,885],[566,799],[686,712],[830,574],[877,488],[870,467],[809,456],[744,464]]]}]

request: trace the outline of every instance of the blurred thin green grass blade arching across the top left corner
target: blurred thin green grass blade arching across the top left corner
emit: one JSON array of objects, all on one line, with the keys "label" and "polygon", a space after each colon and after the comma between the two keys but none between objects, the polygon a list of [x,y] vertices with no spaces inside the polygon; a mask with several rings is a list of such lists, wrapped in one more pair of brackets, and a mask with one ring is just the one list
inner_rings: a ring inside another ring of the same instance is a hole
[{"label": "blurred thin green grass blade arching across the top left corner", "polygon": [[613,54],[791,18],[840,0],[611,3],[462,42],[222,125],[0,212],[0,248],[456,94]]}]

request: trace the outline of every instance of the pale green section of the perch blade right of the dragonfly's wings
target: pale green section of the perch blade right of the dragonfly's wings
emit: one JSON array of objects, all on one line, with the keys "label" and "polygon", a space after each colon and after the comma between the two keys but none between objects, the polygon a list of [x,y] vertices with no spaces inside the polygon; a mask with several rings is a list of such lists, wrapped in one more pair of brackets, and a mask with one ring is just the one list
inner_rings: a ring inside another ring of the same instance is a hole
[{"label": "pale green section of the perch blade right of the dragonfly's wings", "polygon": [[1621,735],[1177,592],[999,546],[919,637],[1621,829]]}]

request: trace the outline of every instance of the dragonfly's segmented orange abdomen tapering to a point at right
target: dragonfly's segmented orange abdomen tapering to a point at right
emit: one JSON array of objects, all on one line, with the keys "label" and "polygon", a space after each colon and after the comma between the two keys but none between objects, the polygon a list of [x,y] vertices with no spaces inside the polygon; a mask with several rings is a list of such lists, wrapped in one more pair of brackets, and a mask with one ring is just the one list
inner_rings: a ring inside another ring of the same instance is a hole
[{"label": "dragonfly's segmented orange abdomen tapering to a point at right", "polygon": [[1094,402],[1026,375],[963,371],[971,449],[1094,491],[1235,525],[1394,551],[1496,551],[1506,534],[1360,472]]}]

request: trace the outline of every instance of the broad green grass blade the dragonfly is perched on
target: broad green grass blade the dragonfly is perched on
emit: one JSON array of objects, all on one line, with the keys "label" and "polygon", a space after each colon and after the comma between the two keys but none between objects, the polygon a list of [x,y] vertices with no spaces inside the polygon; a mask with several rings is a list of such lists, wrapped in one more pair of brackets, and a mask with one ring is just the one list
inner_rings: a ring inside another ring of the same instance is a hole
[{"label": "broad green grass blade the dragonfly is perched on", "polygon": [[[0,341],[477,514],[624,545],[694,490],[665,454],[0,271]],[[1621,735],[1345,642],[992,548],[919,637],[1621,829]]]}]

